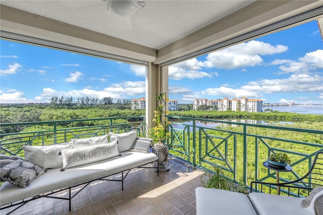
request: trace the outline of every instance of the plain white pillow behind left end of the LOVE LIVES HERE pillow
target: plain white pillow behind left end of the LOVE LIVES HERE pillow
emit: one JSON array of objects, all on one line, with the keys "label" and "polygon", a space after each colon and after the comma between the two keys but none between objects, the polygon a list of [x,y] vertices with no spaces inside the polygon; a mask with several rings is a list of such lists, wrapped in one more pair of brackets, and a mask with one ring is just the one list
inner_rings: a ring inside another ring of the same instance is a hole
[{"label": "plain white pillow behind left end of the LOVE LIVES HERE pillow", "polygon": [[23,146],[25,151],[25,160],[41,168],[61,168],[63,167],[62,156],[59,151],[62,149],[73,148],[72,144],[60,143],[45,146]]}]

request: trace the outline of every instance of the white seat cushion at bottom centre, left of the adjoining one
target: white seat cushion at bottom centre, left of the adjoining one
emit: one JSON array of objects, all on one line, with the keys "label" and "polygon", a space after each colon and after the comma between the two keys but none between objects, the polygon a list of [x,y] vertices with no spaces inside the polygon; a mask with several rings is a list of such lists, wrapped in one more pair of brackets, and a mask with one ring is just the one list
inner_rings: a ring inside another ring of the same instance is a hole
[{"label": "white seat cushion at bottom centre, left of the adjoining one", "polygon": [[242,193],[198,187],[195,189],[196,214],[257,214]]}]

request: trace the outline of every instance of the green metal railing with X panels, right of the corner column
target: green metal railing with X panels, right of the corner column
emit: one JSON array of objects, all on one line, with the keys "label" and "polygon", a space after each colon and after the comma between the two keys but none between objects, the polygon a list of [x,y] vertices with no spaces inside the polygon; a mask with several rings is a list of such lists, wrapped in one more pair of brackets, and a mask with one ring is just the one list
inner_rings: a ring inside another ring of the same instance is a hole
[{"label": "green metal railing with X panels, right of the corner column", "polygon": [[[220,166],[230,179],[246,185],[253,180],[276,182],[276,172],[262,165],[272,152],[287,153],[292,159],[293,171],[280,174],[280,181],[286,182],[305,175],[315,153],[323,151],[322,130],[178,116],[168,116],[168,120],[172,122],[170,154],[209,171]],[[206,125],[197,126],[197,122]],[[306,140],[309,136],[312,142]]]}]

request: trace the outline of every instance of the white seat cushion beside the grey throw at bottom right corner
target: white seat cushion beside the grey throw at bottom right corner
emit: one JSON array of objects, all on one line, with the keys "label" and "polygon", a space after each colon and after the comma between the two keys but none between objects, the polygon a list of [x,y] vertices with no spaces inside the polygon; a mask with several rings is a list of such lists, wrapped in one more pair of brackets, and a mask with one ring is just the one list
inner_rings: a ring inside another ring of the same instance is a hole
[{"label": "white seat cushion beside the grey throw at bottom right corner", "polygon": [[259,215],[309,215],[308,210],[301,206],[303,198],[281,196],[268,193],[249,193],[250,201]]}]

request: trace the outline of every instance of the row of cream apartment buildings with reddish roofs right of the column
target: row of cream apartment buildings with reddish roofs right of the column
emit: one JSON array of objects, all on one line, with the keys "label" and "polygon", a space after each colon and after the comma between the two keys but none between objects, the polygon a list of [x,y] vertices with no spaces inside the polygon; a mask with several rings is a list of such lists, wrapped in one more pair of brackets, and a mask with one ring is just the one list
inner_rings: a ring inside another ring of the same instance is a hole
[{"label": "row of cream apartment buildings with reddish roofs right of the column", "polygon": [[262,112],[262,100],[261,99],[249,99],[247,97],[229,99],[225,97],[223,99],[208,100],[195,99],[193,102],[193,110],[197,110],[200,105],[206,104],[209,106],[209,110],[216,111],[246,111],[246,112]]}]

